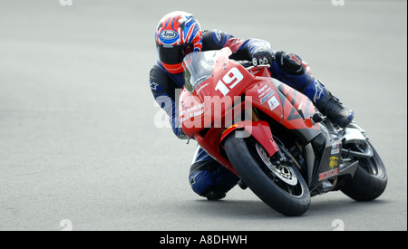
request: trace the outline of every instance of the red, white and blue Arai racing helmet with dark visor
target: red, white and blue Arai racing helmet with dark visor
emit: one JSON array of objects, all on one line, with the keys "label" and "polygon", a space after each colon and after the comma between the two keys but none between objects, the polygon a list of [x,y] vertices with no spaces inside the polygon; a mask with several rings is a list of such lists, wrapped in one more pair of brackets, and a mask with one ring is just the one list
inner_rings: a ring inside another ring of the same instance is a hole
[{"label": "red, white and blue Arai racing helmet with dark visor", "polygon": [[202,49],[199,22],[192,14],[176,11],[161,18],[156,28],[156,47],[163,67],[172,74],[183,72],[183,58]]}]

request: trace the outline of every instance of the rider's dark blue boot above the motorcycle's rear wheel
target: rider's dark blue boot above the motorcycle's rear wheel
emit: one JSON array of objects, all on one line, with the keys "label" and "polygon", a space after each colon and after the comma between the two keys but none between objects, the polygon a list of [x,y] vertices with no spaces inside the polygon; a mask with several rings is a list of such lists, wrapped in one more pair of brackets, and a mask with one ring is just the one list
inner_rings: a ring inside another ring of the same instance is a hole
[{"label": "rider's dark blue boot above the motorcycle's rear wheel", "polygon": [[312,78],[302,92],[313,101],[316,108],[323,115],[334,121],[340,128],[347,127],[355,118],[355,112],[345,108],[342,103],[315,78]]}]

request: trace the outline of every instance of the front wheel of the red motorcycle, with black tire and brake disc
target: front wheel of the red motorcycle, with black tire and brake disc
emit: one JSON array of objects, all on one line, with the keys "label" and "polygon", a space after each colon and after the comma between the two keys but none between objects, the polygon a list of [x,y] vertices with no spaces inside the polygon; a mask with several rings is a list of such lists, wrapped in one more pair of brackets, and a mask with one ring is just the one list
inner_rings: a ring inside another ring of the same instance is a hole
[{"label": "front wheel of the red motorcycle, with black tire and brake disc", "polygon": [[[278,146],[286,151],[283,145]],[[224,147],[238,176],[263,202],[283,215],[306,213],[310,192],[291,159],[270,158],[257,140],[238,138],[234,133]]]}]

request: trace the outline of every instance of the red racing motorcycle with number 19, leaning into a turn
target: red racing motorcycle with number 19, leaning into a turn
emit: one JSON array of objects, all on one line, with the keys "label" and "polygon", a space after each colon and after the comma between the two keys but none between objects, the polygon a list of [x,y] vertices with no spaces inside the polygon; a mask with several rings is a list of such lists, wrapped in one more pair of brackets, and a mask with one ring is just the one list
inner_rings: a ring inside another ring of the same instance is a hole
[{"label": "red racing motorcycle with number 19, leaning into a turn", "polygon": [[272,79],[268,65],[230,60],[228,48],[183,61],[180,123],[212,158],[268,206],[302,215],[311,196],[341,190],[374,200],[387,184],[384,164],[355,122],[325,119],[305,95]]}]

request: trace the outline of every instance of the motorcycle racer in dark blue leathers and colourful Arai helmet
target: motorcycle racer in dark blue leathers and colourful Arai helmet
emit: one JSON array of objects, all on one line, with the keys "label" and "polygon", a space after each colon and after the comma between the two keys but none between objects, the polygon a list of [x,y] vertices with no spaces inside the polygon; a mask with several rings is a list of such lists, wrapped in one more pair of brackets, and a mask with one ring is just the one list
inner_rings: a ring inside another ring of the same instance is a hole
[{"label": "motorcycle racer in dark blue leathers and colourful Arai helmet", "polygon": [[[231,59],[270,64],[273,78],[304,93],[316,108],[339,127],[345,128],[354,118],[354,111],[345,108],[325,86],[311,75],[309,65],[294,53],[276,52],[270,43],[260,39],[243,40],[219,30],[201,31],[197,19],[186,12],[172,12],[161,18],[155,33],[159,60],[150,72],[151,91],[155,101],[170,117],[174,134],[188,139],[183,133],[177,107],[177,90],[184,86],[182,61],[191,52],[219,50],[228,47]],[[180,91],[179,91],[180,92]],[[193,191],[209,200],[226,196],[239,178],[198,147],[189,171]]]}]

